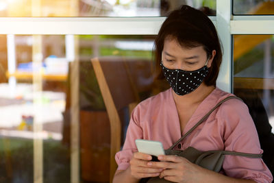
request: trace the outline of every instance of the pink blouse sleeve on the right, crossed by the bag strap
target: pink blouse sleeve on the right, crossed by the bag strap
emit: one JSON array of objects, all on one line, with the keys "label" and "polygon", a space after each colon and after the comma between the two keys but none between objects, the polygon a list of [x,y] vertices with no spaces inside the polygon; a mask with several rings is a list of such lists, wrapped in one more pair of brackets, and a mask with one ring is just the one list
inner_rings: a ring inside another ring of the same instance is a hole
[{"label": "pink blouse sleeve on the right, crossed by the bag strap", "polygon": [[[222,104],[217,118],[224,121],[225,150],[262,154],[256,127],[245,103],[231,99]],[[272,182],[273,176],[262,158],[226,155],[223,171],[233,178]]]}]

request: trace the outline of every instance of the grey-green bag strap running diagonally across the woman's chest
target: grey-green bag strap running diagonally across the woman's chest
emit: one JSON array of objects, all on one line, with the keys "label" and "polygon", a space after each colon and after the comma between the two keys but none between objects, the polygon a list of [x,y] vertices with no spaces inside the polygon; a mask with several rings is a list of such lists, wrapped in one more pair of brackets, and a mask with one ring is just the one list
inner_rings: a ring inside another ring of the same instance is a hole
[{"label": "grey-green bag strap running diagonally across the woman's chest", "polygon": [[186,138],[186,136],[188,136],[188,134],[190,134],[193,130],[195,130],[195,128],[197,126],[199,126],[201,123],[203,123],[203,121],[219,106],[221,106],[222,103],[224,103],[225,101],[229,100],[229,99],[239,99],[240,101],[242,101],[242,99],[240,99],[239,97],[236,96],[229,96],[226,97],[225,99],[223,99],[222,101],[220,101],[219,103],[216,104],[216,106],[214,106],[214,108],[212,108],[212,110],[210,110],[210,112],[208,112],[208,114],[206,114],[202,119],[200,119],[200,121],[198,121],[198,123],[196,123],[196,125],[194,125],[190,130],[188,130],[188,132],[186,132],[186,134],[184,134],[181,138],[179,138],[179,140],[174,143],[171,147],[169,147],[169,150],[173,149],[178,143],[180,143],[184,138]]}]

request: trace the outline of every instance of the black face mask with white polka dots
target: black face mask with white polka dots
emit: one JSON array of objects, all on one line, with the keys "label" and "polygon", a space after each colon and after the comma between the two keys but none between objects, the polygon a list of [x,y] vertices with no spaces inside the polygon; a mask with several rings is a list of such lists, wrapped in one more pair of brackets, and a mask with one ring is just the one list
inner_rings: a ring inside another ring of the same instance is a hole
[{"label": "black face mask with white polka dots", "polygon": [[208,74],[208,66],[206,65],[196,71],[167,69],[162,62],[160,65],[162,66],[164,77],[166,77],[166,80],[177,95],[186,95],[197,89]]}]

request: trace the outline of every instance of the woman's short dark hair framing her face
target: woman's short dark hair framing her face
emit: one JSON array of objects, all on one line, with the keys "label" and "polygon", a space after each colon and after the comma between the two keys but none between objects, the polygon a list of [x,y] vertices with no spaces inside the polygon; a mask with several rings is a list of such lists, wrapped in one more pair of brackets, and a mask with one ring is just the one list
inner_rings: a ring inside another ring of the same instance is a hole
[{"label": "woman's short dark hair framing her face", "polygon": [[216,29],[206,14],[188,5],[182,5],[181,8],[169,14],[155,39],[156,80],[164,78],[160,62],[166,38],[175,38],[179,45],[186,48],[203,46],[208,58],[212,56],[212,51],[216,50],[209,73],[204,79],[207,86],[216,85],[222,61],[222,51]]}]

